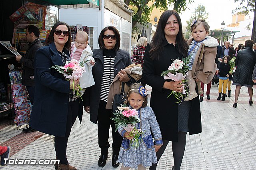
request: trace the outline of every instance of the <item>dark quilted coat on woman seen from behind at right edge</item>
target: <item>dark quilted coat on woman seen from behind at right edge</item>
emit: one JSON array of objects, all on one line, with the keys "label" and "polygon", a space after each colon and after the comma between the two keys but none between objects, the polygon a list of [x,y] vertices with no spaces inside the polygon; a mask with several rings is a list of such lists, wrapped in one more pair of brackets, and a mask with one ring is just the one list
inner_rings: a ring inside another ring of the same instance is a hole
[{"label": "dark quilted coat on woman seen from behind at right edge", "polygon": [[232,81],[244,85],[253,85],[252,73],[256,62],[256,52],[250,47],[244,47],[236,56],[236,70]]}]

